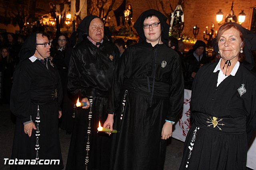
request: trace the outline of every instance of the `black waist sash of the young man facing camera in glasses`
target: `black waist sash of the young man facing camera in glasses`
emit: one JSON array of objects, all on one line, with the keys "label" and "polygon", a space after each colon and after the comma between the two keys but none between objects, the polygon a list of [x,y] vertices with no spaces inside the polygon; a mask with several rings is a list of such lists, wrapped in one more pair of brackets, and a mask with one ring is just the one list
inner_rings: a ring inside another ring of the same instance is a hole
[{"label": "black waist sash of the young man facing camera in glasses", "polygon": [[[147,79],[140,79],[140,80],[125,79],[124,88],[128,89],[128,91],[136,92],[141,95],[146,95],[148,97],[151,97],[151,92],[148,92]],[[169,88],[170,88],[170,85],[167,83],[155,82],[153,97],[166,98],[166,99],[169,98]],[[151,85],[150,85],[150,89],[152,89]]]}]

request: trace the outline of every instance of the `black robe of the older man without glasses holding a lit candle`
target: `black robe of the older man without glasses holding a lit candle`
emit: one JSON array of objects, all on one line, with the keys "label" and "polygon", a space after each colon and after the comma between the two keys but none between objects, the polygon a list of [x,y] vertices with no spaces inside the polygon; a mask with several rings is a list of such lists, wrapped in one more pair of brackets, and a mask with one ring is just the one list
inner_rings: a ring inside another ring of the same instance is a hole
[{"label": "black robe of the older man without glasses holding a lit candle", "polygon": [[[103,125],[108,116],[108,93],[118,58],[116,46],[106,40],[96,47],[85,38],[72,52],[68,69],[68,90],[77,98],[79,96],[80,100],[84,97],[89,99],[90,96],[93,100],[92,118],[89,117],[90,109],[77,108],[66,170],[85,169],[86,160],[88,170],[109,169],[110,136],[97,133],[97,127],[99,121]],[[88,159],[86,147],[90,147]]]}]

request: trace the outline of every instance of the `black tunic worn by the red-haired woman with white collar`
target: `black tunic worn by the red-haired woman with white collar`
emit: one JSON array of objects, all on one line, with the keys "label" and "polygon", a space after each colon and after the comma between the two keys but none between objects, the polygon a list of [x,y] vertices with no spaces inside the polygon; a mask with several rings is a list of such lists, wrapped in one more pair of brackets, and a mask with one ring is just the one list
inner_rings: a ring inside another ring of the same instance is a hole
[{"label": "black tunic worn by the red-haired woman with white collar", "polygon": [[[180,170],[246,168],[246,126],[256,113],[256,78],[240,64],[235,76],[229,75],[216,87],[219,71],[213,73],[215,67],[216,63],[204,65],[194,79],[190,107],[194,121]],[[246,93],[240,95],[238,89],[243,85]],[[218,121],[215,128],[213,117]]]}]

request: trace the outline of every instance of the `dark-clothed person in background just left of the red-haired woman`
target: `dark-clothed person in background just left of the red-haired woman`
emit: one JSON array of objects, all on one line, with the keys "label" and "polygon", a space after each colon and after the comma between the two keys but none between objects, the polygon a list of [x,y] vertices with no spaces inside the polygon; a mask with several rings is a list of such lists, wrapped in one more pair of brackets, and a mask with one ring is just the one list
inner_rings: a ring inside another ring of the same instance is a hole
[{"label": "dark-clothed person in background just left of the red-haired woman", "polygon": [[193,49],[188,52],[186,57],[183,60],[183,76],[184,76],[184,87],[185,89],[192,89],[192,83],[196,73],[202,65],[209,63],[206,53],[205,53],[206,44],[197,40]]}]

